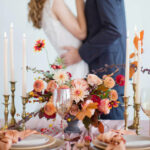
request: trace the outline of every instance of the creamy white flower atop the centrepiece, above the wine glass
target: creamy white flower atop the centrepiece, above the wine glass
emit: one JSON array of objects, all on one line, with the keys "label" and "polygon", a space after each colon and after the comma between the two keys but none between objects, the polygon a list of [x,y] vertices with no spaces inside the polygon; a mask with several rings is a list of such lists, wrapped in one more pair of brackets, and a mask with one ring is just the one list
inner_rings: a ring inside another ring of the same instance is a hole
[{"label": "creamy white flower atop the centrepiece, above the wine glass", "polygon": [[54,80],[61,85],[69,81],[69,76],[65,71],[59,70],[54,74]]}]

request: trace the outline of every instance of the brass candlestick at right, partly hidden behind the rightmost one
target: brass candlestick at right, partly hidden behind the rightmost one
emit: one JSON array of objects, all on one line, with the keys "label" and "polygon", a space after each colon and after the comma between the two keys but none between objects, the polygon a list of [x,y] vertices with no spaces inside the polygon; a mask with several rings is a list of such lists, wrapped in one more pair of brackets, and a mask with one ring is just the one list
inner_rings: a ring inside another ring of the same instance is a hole
[{"label": "brass candlestick at right, partly hidden behind the rightmost one", "polygon": [[129,129],[136,129],[136,108],[135,108],[136,84],[135,83],[133,83],[133,91],[134,91],[134,96],[133,96],[133,100],[134,100],[134,104],[133,104],[133,108],[134,108],[134,120],[133,120],[133,124],[128,127]]}]

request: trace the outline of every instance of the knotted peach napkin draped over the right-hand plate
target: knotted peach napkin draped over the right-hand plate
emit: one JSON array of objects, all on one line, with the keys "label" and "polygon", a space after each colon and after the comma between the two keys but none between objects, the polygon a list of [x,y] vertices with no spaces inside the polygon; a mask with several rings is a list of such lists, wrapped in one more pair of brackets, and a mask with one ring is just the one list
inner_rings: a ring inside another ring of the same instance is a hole
[{"label": "knotted peach napkin draped over the right-hand plate", "polygon": [[106,150],[126,150],[126,141],[123,135],[135,135],[133,131],[110,130],[98,136],[98,140],[108,144]]}]

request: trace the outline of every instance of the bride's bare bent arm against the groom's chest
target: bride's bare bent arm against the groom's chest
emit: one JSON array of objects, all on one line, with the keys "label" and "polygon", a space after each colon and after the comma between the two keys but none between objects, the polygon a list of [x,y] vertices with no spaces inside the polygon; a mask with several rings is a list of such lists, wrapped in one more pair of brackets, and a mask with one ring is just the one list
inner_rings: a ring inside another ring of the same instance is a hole
[{"label": "bride's bare bent arm against the groom's chest", "polygon": [[64,0],[54,0],[52,10],[65,28],[79,40],[86,38],[86,19],[84,15],[84,0],[76,0],[77,17],[69,10]]}]

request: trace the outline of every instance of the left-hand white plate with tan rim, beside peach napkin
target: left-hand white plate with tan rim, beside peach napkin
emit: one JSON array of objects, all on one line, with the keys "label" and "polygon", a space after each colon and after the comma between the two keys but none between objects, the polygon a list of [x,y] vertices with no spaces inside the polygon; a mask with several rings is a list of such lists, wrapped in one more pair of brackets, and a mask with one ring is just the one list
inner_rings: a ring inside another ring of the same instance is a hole
[{"label": "left-hand white plate with tan rim, beside peach napkin", "polygon": [[37,150],[49,147],[56,142],[56,139],[42,134],[33,134],[24,140],[13,144],[11,150]]}]

